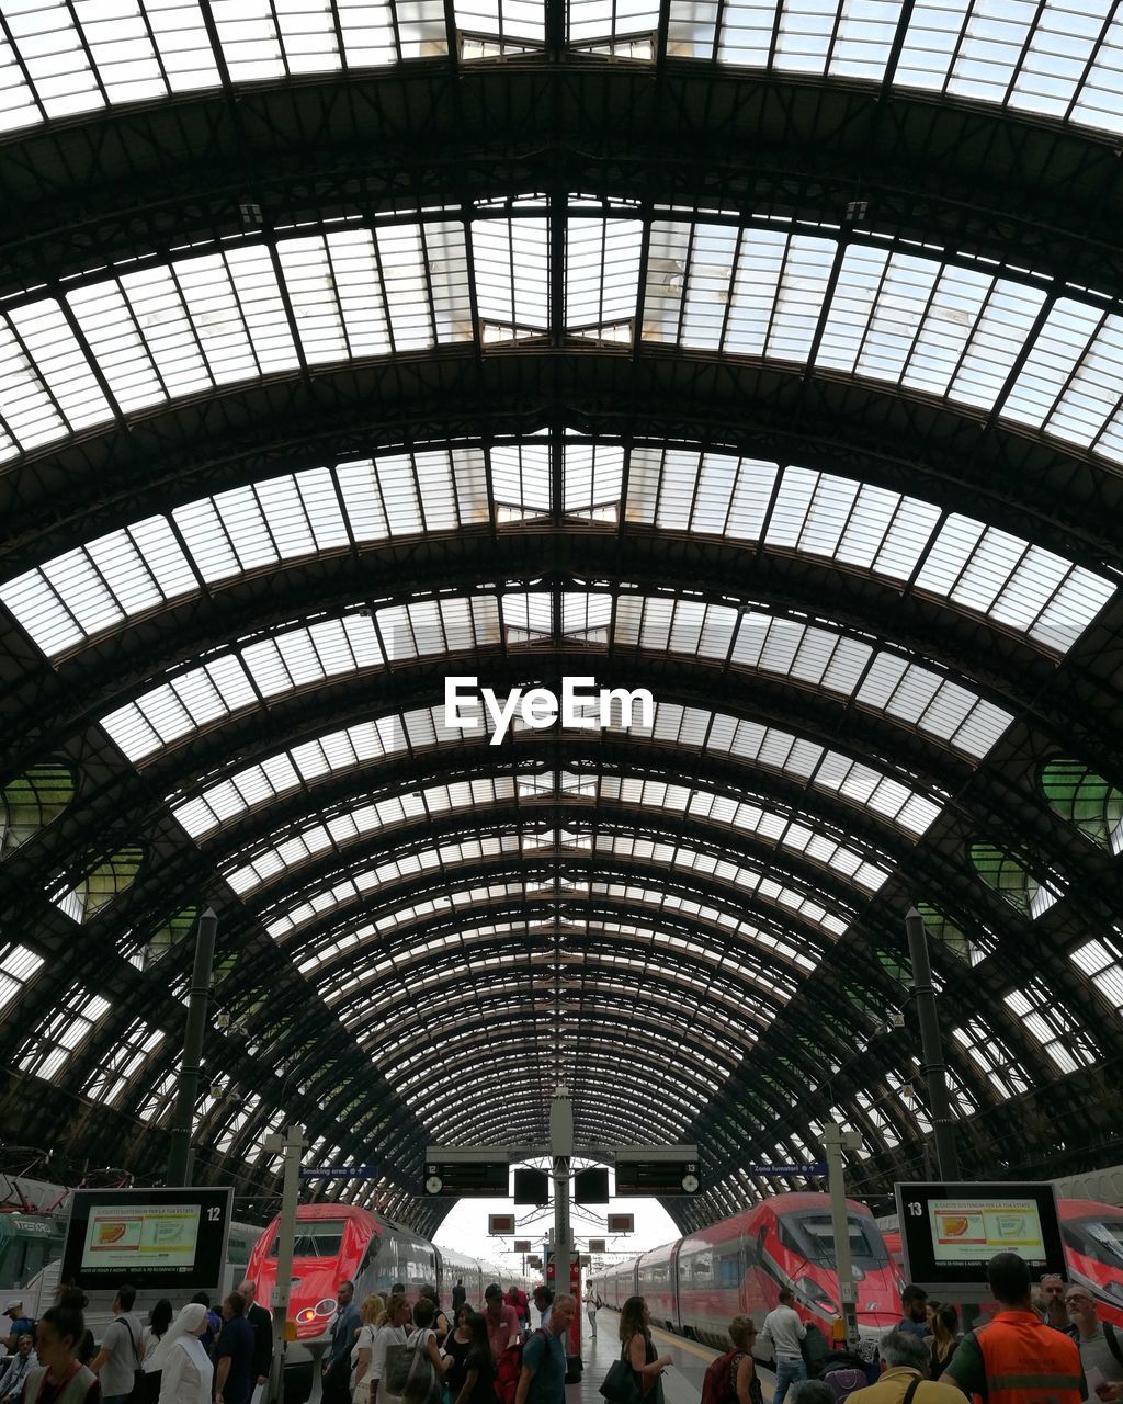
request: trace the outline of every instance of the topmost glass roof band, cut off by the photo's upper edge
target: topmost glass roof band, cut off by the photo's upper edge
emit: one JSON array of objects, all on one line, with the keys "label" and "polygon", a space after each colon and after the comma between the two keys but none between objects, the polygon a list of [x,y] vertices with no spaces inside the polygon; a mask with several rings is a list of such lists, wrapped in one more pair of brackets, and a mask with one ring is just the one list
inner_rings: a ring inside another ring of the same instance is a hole
[{"label": "topmost glass roof band, cut off by the photo's upper edge", "polygon": [[[0,129],[233,84],[448,51],[438,0],[4,0]],[[460,0],[462,58],[543,42],[542,0]],[[651,58],[651,0],[570,0],[567,37]],[[894,39],[903,28],[900,49]],[[837,77],[1123,131],[1123,29],[1110,0],[672,0],[668,53]]]}]

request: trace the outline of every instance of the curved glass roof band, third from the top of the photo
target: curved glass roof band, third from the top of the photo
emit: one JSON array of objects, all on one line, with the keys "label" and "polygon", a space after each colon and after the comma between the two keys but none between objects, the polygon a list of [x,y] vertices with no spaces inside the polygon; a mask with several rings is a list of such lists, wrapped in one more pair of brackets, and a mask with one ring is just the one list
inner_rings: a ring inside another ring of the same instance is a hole
[{"label": "curved glass roof band, third from the top of the photo", "polygon": [[[487,497],[487,458],[494,504]],[[931,503],[800,468],[698,451],[570,439],[563,510],[667,531],[762,541],[872,571],[1065,653],[1115,591],[1102,576]],[[153,517],[0,587],[53,657],[202,583],[390,535],[549,512],[550,448],[529,441],[385,453],[265,479]],[[173,524],[174,522],[174,529]],[[180,545],[182,542],[182,546]],[[182,548],[187,548],[184,552]],[[921,567],[917,570],[917,567]],[[605,621],[602,621],[604,623]]]}]

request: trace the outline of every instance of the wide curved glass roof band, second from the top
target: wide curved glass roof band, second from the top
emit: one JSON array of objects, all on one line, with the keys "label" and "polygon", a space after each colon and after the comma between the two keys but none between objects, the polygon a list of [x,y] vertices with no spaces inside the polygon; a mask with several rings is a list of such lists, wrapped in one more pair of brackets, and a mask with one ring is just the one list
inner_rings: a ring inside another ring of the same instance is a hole
[{"label": "wide curved glass roof band, second from the top", "polygon": [[[281,237],[275,250],[254,232],[218,253],[84,282],[65,302],[28,293],[0,317],[0,458],[299,366],[540,337],[553,320],[546,204],[526,197],[514,209],[477,211],[467,237],[441,211]],[[780,220],[660,218],[640,296],[639,220],[580,213],[566,234],[560,322],[573,336],[630,341],[639,319],[650,343],[814,358],[971,410],[997,406],[1123,463],[1110,389],[1123,373],[1123,317],[1075,292],[1047,306],[1033,274],[894,253],[853,232],[839,243]]]}]

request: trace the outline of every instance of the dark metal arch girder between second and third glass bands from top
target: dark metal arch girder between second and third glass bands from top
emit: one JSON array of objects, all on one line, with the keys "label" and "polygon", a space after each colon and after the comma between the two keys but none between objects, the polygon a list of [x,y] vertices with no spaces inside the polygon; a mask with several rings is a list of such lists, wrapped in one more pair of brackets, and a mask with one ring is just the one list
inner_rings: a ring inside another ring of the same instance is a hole
[{"label": "dark metal arch girder between second and third glass bands from top", "polygon": [[803,366],[643,345],[477,355],[442,345],[317,366],[129,417],[0,475],[10,569],[194,497],[380,446],[493,439],[564,423],[823,468],[911,493],[1088,564],[1123,564],[1123,479],[1092,455],[977,411]]}]

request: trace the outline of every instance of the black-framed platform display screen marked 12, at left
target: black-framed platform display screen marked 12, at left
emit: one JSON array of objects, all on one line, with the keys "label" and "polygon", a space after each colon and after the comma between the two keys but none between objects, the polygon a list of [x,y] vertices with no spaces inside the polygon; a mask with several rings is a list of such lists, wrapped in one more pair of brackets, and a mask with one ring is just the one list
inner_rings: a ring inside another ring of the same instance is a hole
[{"label": "black-framed platform display screen marked 12, at left", "polygon": [[91,1292],[222,1283],[232,1189],[79,1189],[62,1280]]}]

